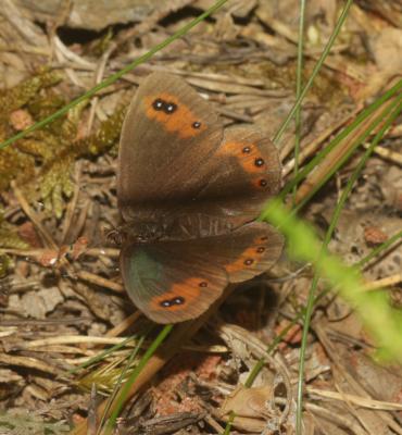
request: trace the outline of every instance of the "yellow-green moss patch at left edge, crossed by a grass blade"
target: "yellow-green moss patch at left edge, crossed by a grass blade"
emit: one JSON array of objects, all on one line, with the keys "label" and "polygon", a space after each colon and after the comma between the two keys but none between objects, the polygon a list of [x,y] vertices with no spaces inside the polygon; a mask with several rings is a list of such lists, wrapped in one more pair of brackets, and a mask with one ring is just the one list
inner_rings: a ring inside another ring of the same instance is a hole
[{"label": "yellow-green moss patch at left edge, crossed by a grass blade", "polygon": [[[35,122],[63,107],[64,98],[51,88],[59,82],[60,76],[42,71],[11,89],[0,91],[0,140],[15,134],[10,122],[13,111],[24,109]],[[15,179],[21,188],[29,190],[28,198],[42,199],[47,210],[58,217],[62,215],[63,198],[68,198],[74,189],[71,175],[75,161],[108,151],[116,153],[128,104],[120,105],[96,133],[77,139],[86,105],[86,102],[78,104],[65,116],[0,151],[0,192]]]}]

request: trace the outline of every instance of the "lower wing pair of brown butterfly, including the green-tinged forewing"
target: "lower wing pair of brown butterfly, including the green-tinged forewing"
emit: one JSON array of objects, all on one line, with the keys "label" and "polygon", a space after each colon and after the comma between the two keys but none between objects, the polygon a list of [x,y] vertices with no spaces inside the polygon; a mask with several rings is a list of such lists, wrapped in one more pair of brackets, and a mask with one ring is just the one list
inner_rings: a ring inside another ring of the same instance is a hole
[{"label": "lower wing pair of brown butterfly, including the green-tinged forewing", "polygon": [[269,225],[252,223],[228,235],[128,246],[121,268],[134,303],[158,323],[176,323],[202,314],[228,283],[268,270],[281,248]]}]

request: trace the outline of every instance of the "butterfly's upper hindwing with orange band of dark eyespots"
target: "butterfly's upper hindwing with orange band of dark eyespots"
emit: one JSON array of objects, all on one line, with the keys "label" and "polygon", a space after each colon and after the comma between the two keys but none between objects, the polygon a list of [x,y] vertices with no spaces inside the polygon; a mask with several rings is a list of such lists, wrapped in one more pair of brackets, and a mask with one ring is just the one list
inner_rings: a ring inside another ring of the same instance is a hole
[{"label": "butterfly's upper hindwing with orange band of dark eyespots", "polygon": [[227,128],[208,170],[209,183],[193,207],[206,202],[210,215],[225,216],[235,226],[254,220],[280,187],[278,151],[251,126]]}]

